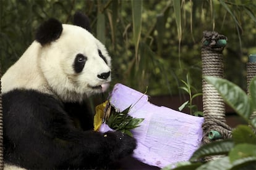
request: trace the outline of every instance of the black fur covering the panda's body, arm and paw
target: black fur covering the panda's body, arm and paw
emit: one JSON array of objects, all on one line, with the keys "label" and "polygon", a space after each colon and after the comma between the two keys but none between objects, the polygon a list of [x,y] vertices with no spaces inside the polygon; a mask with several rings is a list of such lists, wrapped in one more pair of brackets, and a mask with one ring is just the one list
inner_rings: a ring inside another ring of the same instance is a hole
[{"label": "black fur covering the panda's body, arm and paw", "polygon": [[2,99],[7,163],[27,169],[106,168],[135,148],[132,137],[89,130],[92,117],[79,103],[19,89]]}]

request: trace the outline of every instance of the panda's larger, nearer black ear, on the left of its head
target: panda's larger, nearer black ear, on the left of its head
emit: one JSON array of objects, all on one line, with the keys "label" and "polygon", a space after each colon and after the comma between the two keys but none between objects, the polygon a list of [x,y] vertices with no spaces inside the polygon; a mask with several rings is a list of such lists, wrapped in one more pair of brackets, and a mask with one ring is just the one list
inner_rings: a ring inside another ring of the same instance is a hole
[{"label": "panda's larger, nearer black ear, on the left of its head", "polygon": [[39,26],[35,39],[43,46],[58,39],[61,36],[62,29],[62,23],[59,20],[50,18]]}]

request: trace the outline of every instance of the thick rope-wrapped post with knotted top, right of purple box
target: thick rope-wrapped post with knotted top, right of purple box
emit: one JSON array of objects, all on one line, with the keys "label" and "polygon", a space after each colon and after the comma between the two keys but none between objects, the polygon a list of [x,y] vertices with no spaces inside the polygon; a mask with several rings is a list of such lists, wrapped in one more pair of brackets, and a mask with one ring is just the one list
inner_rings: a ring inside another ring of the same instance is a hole
[{"label": "thick rope-wrapped post with knotted top, right of purple box", "polygon": [[[202,39],[202,75],[223,78],[223,49],[226,36],[215,31],[203,31]],[[211,140],[231,137],[231,127],[226,124],[225,105],[218,91],[205,79],[203,91],[203,144]]]}]

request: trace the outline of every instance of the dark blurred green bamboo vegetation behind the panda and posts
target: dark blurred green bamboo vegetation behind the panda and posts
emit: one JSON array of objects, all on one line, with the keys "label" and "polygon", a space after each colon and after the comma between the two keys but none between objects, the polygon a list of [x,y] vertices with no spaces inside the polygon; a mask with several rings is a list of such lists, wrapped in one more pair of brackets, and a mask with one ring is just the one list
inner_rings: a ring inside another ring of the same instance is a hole
[{"label": "dark blurred green bamboo vegetation behind the panda and posts", "polygon": [[113,58],[113,84],[147,94],[179,94],[189,73],[200,91],[202,32],[228,37],[225,77],[246,87],[245,63],[256,54],[254,0],[0,0],[2,71],[19,59],[38,25],[50,17],[72,23],[76,10],[87,14],[92,33]]}]

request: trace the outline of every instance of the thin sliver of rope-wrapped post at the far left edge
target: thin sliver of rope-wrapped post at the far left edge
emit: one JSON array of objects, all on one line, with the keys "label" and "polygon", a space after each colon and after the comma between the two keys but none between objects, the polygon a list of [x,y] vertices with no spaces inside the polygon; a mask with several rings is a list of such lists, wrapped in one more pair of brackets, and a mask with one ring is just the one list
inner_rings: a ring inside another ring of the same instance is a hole
[{"label": "thin sliver of rope-wrapped post at the far left edge", "polygon": [[2,86],[1,86],[1,64],[0,64],[0,170],[4,169],[4,146],[3,146],[3,124],[2,124]]}]

